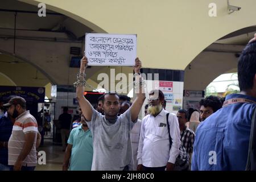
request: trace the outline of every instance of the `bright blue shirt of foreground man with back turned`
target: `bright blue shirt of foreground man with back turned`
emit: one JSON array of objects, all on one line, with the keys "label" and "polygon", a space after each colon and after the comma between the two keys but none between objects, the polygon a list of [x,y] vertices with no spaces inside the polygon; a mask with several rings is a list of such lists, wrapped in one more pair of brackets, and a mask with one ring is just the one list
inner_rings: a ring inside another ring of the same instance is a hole
[{"label": "bright blue shirt of foreground man with back turned", "polygon": [[[231,98],[256,98],[230,94]],[[192,170],[243,171],[246,167],[251,120],[256,104],[236,103],[222,107],[196,130]]]}]

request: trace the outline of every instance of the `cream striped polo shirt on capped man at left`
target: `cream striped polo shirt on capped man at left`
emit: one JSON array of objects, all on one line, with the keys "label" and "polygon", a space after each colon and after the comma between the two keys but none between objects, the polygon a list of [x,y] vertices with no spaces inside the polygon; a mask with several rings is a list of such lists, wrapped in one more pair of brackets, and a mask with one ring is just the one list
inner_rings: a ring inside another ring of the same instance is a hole
[{"label": "cream striped polo shirt on capped man at left", "polygon": [[[20,114],[14,123],[13,132],[8,142],[8,163],[14,165],[22,151],[25,143],[25,134],[30,132],[38,132],[38,124],[36,119],[30,114],[30,111],[25,111]],[[23,160],[22,166],[36,166],[36,137],[30,153]]]}]

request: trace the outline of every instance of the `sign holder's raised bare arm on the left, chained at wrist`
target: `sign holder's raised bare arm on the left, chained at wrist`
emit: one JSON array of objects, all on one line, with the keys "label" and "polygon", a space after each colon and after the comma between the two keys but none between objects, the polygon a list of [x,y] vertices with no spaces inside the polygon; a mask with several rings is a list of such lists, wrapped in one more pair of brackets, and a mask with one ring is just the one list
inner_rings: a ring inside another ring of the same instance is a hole
[{"label": "sign holder's raised bare arm on the left, chained at wrist", "polygon": [[77,81],[77,82],[80,82],[81,85],[78,84],[76,87],[76,98],[77,98],[77,101],[79,101],[82,114],[84,114],[86,121],[90,121],[92,119],[92,105],[84,97],[84,85],[83,85],[83,83],[85,82],[84,74],[85,74],[85,68],[87,67],[87,64],[88,64],[87,58],[85,56],[82,57],[81,64],[80,64],[80,73]]}]

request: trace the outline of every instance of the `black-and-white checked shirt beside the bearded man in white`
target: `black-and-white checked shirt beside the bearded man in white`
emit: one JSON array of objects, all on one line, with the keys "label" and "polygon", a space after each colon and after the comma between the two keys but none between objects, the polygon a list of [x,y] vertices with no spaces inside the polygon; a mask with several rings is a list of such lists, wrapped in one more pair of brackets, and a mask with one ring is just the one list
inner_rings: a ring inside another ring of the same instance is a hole
[{"label": "black-and-white checked shirt beside the bearded man in white", "polygon": [[195,133],[188,127],[180,132],[181,145],[185,148],[186,152],[193,152],[193,144],[195,141]]}]

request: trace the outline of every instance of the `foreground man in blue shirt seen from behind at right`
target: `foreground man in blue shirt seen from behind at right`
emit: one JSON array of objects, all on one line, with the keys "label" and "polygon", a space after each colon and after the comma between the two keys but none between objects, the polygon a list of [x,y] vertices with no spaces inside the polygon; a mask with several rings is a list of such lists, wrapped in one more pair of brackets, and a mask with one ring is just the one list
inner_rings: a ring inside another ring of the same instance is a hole
[{"label": "foreground man in blue shirt seen from behind at right", "polygon": [[192,170],[245,170],[256,108],[256,34],[252,40],[238,61],[241,93],[226,96],[222,109],[197,127]]}]

